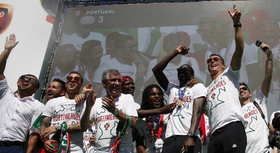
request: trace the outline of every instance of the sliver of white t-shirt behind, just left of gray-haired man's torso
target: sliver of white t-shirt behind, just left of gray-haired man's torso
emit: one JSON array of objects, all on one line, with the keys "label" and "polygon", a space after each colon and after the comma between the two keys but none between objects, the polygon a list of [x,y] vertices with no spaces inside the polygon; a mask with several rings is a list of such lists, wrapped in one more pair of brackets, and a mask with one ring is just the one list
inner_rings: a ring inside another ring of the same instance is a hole
[{"label": "sliver of white t-shirt behind, just left of gray-haired man's torso", "polygon": [[[93,132],[95,132],[95,126],[89,127],[92,129]],[[94,144],[89,142],[89,137],[92,137],[92,132],[89,130],[89,128],[84,132],[84,153],[93,153],[94,152]]]}]

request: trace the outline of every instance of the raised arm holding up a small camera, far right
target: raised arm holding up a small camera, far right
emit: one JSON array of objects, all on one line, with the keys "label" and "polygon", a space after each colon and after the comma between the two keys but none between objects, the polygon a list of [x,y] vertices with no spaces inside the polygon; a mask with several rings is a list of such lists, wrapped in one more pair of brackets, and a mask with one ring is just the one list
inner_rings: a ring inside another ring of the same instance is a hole
[{"label": "raised arm holding up a small camera, far right", "polygon": [[267,48],[270,50],[270,52],[266,54],[267,55],[267,61],[266,61],[266,64],[265,64],[265,78],[262,81],[262,86],[261,86],[261,90],[264,93],[265,98],[267,98],[268,93],[269,93],[269,89],[270,89],[271,78],[272,78],[272,67],[273,67],[272,52],[271,52],[270,47],[267,44],[262,43],[260,45],[260,47],[261,47],[262,50],[265,50]]}]

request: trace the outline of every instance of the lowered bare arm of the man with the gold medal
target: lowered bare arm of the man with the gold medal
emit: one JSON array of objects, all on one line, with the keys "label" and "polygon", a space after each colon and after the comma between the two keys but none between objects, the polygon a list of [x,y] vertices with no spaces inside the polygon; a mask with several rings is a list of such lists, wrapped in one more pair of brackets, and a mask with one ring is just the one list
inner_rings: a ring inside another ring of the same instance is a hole
[{"label": "lowered bare arm of the man with the gold medal", "polygon": [[[191,126],[189,128],[189,132],[192,132],[193,135],[198,127],[198,123],[201,119],[201,115],[203,115],[204,110],[203,107],[205,105],[206,99],[205,97],[199,97],[194,99],[194,103],[192,106],[192,119],[191,119]],[[186,140],[183,144],[182,151],[185,150],[188,152],[188,149],[193,148],[195,145],[195,141],[192,137],[186,137]]]}]

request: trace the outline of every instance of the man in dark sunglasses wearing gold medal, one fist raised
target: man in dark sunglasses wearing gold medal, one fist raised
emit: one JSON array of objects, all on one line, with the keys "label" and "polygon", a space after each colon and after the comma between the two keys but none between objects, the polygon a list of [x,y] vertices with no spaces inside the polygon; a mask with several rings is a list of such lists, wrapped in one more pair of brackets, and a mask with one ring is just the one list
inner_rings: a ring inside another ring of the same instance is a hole
[{"label": "man in dark sunglasses wearing gold medal, one fist raised", "polygon": [[177,107],[169,114],[163,153],[179,153],[183,150],[198,153],[202,150],[197,127],[206,101],[205,86],[199,83],[189,88],[194,70],[188,64],[184,64],[177,69],[179,85],[168,81],[163,73],[163,70],[173,58],[179,54],[186,55],[188,51],[189,48],[180,45],[153,68],[158,84],[164,89],[164,93],[169,95],[169,103],[177,103]]}]

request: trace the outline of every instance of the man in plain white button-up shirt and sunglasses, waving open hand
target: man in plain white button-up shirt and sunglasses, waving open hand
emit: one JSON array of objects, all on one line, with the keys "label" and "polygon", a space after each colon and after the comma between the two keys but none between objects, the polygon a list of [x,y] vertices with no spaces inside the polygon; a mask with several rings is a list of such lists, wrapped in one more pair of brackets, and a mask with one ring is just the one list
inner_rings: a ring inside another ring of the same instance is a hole
[{"label": "man in plain white button-up shirt and sunglasses, waving open hand", "polygon": [[34,75],[22,75],[18,82],[18,93],[14,95],[4,76],[7,58],[18,44],[15,34],[6,38],[5,50],[0,55],[0,150],[2,152],[23,153],[24,143],[29,133],[27,152],[33,152],[39,138],[30,129],[43,111],[44,105],[32,96],[40,84]]}]

